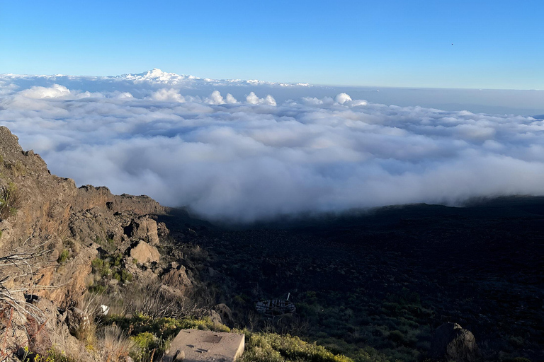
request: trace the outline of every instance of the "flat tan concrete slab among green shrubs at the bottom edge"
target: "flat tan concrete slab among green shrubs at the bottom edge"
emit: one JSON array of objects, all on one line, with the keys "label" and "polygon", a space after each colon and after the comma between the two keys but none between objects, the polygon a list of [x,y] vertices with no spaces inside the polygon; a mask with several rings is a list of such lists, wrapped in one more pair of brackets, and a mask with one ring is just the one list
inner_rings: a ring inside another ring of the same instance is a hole
[{"label": "flat tan concrete slab among green shrubs at the bottom edge", "polygon": [[244,353],[244,334],[181,329],[164,362],[234,362]]}]

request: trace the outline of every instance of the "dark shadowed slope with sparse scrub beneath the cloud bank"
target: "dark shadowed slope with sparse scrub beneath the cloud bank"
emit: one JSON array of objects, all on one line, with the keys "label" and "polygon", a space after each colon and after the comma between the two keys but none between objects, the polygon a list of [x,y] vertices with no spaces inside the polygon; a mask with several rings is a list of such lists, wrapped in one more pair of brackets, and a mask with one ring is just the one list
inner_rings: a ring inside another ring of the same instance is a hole
[{"label": "dark shadowed slope with sparse scrub beneath the cloud bank", "polygon": [[[484,361],[544,361],[544,197],[250,226],[180,209],[161,221],[202,248],[188,270],[213,303],[232,308],[237,327],[298,335],[356,361],[424,361],[434,329],[456,322]],[[256,313],[257,301],[288,294],[294,315]]]}]

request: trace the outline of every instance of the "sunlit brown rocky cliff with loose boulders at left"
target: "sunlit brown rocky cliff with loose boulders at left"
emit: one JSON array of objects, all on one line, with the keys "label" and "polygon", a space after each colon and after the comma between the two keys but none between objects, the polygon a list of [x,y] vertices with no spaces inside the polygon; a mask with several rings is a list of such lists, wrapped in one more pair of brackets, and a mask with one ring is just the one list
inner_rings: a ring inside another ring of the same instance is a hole
[{"label": "sunlit brown rocky cliff with loose boulders at left", "polygon": [[176,286],[172,293],[191,288],[184,267],[159,252],[169,232],[153,217],[165,212],[146,196],[77,187],[52,175],[38,154],[23,151],[17,136],[0,127],[0,329],[11,336],[2,341],[0,359],[28,343],[39,348],[38,330],[47,337],[41,347],[60,336],[77,344],[66,313],[73,315],[93,286],[115,291],[132,280],[146,286],[164,279],[166,290]]}]

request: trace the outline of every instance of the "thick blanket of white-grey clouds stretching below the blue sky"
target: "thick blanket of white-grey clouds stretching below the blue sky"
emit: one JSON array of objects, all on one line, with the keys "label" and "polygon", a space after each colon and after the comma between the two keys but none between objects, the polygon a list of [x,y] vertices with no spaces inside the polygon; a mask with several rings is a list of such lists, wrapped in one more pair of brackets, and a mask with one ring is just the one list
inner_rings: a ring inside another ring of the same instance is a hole
[{"label": "thick blanket of white-grey clouds stretching below the blue sky", "polygon": [[[308,96],[270,94],[293,88]],[[0,124],[52,173],[208,218],[544,194],[543,120],[317,98],[311,88],[158,70],[1,75]]]}]

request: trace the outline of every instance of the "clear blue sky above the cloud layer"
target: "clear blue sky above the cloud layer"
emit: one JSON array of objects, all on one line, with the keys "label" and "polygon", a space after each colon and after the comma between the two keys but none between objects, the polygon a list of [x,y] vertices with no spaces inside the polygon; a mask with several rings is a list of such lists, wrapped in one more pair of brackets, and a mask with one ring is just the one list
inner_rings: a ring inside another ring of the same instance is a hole
[{"label": "clear blue sky above the cloud layer", "polygon": [[[544,88],[544,1],[6,1],[0,73]],[[453,43],[453,45],[452,45]]]}]

